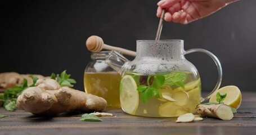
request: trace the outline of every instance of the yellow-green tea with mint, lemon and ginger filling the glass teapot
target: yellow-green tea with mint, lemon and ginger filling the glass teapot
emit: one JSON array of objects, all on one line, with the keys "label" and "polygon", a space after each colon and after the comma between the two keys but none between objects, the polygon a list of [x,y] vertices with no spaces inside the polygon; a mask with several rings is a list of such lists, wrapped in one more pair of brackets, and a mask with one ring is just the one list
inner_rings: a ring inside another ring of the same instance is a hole
[{"label": "yellow-green tea with mint, lemon and ginger filling the glass teapot", "polygon": [[[173,71],[155,75],[127,73],[123,78],[125,79],[122,79],[120,84],[120,101],[122,109],[129,114],[176,117],[185,113],[195,113],[195,107],[200,104],[201,82],[199,75]],[[134,85],[136,86],[133,87]],[[136,93],[135,91],[131,92],[132,88],[137,88],[137,103],[134,101]],[[134,100],[130,100],[134,106],[125,99],[128,96],[134,98]]]}]

